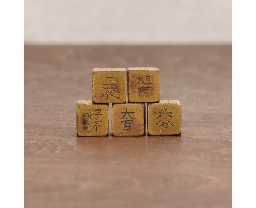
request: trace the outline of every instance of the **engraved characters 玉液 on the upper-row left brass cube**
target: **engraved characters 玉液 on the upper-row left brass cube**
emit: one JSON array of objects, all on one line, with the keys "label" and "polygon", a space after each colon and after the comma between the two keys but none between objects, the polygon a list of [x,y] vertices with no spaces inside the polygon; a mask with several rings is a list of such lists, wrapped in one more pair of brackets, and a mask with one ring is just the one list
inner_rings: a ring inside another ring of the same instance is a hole
[{"label": "engraved characters \u7389\u6db2 on the upper-row left brass cube", "polygon": [[102,84],[102,95],[101,97],[106,96],[107,100],[109,96],[114,97],[115,99],[119,99],[120,96],[118,94],[120,93],[120,87],[118,80],[113,77],[105,77],[106,81]]}]

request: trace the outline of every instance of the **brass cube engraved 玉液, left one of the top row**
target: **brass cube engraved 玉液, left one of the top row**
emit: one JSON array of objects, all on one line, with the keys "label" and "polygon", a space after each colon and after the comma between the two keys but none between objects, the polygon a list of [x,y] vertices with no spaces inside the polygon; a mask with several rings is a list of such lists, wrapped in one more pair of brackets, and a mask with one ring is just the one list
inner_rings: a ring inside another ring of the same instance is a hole
[{"label": "brass cube engraved \u7389\u6db2, left one of the top row", "polygon": [[94,68],[92,70],[92,101],[94,103],[126,102],[126,69]]}]

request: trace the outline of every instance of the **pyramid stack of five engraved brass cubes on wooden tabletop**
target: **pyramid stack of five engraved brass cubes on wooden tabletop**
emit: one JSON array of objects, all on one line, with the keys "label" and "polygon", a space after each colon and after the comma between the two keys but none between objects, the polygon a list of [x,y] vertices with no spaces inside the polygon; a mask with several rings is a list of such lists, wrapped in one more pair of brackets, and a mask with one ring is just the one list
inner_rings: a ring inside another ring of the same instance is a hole
[{"label": "pyramid stack of five engraved brass cubes on wooden tabletop", "polygon": [[158,68],[94,68],[92,100],[77,102],[77,135],[107,136],[109,103],[113,136],[145,134],[145,103],[149,135],[180,134],[181,103],[159,97]]}]

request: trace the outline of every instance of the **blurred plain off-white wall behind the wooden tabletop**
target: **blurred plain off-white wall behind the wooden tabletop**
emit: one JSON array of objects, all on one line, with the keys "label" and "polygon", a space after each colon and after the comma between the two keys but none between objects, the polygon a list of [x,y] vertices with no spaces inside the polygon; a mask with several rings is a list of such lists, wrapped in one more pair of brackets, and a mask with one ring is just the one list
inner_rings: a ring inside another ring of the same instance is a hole
[{"label": "blurred plain off-white wall behind the wooden tabletop", "polygon": [[231,0],[25,0],[25,44],[231,44]]}]

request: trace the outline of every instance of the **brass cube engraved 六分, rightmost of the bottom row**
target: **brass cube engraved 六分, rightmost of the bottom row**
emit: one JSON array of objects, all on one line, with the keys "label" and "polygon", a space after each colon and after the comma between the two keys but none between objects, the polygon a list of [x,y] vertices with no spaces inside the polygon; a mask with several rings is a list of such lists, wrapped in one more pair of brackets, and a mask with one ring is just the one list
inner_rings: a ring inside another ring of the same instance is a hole
[{"label": "brass cube engraved \u516d\u5206, rightmost of the bottom row", "polygon": [[160,100],[148,105],[148,133],[177,135],[181,133],[181,102]]}]

